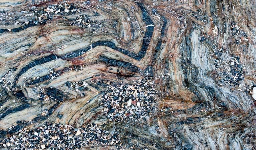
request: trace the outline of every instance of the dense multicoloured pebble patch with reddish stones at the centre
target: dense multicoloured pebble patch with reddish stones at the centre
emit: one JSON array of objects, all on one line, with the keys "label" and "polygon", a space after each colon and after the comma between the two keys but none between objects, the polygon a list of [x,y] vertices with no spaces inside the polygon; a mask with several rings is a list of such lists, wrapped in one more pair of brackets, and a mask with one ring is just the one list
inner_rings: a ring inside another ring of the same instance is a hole
[{"label": "dense multicoloured pebble patch with reddish stones at the centre", "polygon": [[139,79],[136,84],[112,85],[103,81],[106,90],[100,100],[102,112],[108,121],[133,119],[141,121],[149,117],[156,109],[154,104],[154,81],[148,78]]}]

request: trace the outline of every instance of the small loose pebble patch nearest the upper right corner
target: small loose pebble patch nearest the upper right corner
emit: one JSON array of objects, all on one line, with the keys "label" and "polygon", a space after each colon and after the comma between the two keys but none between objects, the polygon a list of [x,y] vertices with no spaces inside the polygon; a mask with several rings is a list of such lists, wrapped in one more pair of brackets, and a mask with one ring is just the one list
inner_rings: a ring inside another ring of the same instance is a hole
[{"label": "small loose pebble patch nearest the upper right corner", "polygon": [[231,29],[231,32],[232,32],[231,35],[236,40],[236,44],[239,44],[243,40],[249,41],[246,32],[244,32],[235,22],[231,22],[230,29]]}]

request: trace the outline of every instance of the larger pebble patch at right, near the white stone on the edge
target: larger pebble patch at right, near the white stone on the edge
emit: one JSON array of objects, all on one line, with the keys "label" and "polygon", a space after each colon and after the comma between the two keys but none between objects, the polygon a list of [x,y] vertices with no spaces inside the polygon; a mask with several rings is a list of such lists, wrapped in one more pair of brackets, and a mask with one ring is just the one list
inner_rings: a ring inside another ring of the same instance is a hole
[{"label": "larger pebble patch at right, near the white stone on the edge", "polygon": [[217,81],[229,84],[239,89],[240,82],[244,80],[246,68],[241,64],[239,56],[231,56],[229,61],[214,61]]}]

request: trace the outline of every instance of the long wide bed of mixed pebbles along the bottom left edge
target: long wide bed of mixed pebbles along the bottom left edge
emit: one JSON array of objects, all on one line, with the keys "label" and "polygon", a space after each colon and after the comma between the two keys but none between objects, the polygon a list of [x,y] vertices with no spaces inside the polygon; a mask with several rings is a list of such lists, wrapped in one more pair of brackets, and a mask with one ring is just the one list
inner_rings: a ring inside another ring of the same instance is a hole
[{"label": "long wide bed of mixed pebbles along the bottom left edge", "polygon": [[[13,127],[10,127],[13,128]],[[3,131],[1,131],[3,132]],[[0,148],[8,149],[80,149],[83,146],[109,146],[122,149],[119,133],[110,133],[97,124],[85,123],[81,128],[72,125],[46,123],[36,129],[22,128],[8,134],[0,142]]]}]

